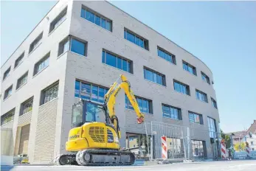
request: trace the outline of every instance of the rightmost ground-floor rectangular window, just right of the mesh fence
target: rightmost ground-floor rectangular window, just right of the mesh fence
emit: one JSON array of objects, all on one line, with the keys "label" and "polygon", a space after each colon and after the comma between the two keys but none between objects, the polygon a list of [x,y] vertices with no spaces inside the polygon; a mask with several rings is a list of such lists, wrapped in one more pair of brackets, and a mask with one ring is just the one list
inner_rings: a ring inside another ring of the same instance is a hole
[{"label": "rightmost ground-floor rectangular window, just right of the mesh fence", "polygon": [[204,141],[191,140],[192,153],[194,158],[206,157],[206,146]]}]

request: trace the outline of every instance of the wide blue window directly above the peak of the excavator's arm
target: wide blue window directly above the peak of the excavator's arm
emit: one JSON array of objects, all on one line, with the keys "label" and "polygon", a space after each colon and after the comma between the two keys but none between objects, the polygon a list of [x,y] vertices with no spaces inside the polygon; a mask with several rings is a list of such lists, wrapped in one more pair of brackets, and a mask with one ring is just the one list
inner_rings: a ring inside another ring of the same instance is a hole
[{"label": "wide blue window directly above the peak of the excavator's arm", "polygon": [[114,55],[111,52],[103,50],[102,62],[109,66],[114,66],[117,69],[122,69],[122,71],[132,73],[132,61],[127,60],[124,57]]}]

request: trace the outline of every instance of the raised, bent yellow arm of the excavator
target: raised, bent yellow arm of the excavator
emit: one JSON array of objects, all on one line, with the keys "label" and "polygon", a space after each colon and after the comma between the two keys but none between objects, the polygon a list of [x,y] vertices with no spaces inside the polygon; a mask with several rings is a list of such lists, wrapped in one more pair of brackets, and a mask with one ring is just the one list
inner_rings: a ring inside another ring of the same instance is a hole
[{"label": "raised, bent yellow arm of the excavator", "polygon": [[112,84],[112,86],[109,88],[107,94],[105,94],[105,105],[108,108],[108,116],[111,120],[111,123],[114,125],[114,128],[117,130],[119,137],[121,136],[119,125],[118,125],[118,119],[115,114],[114,105],[116,103],[116,97],[117,94],[120,92],[120,90],[123,89],[125,91],[126,96],[128,97],[128,100],[131,102],[131,105],[134,107],[134,111],[137,116],[137,122],[138,124],[141,124],[144,122],[144,114],[142,114],[139,110],[139,105],[136,102],[136,98],[134,97],[134,93],[131,90],[131,85],[127,78],[121,74],[120,77],[117,79],[116,82]]}]

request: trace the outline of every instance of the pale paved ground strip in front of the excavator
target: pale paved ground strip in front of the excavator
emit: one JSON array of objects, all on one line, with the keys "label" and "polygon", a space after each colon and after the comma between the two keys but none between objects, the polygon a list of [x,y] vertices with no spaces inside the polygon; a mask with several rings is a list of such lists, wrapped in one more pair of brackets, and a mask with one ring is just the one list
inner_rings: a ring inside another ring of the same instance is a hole
[{"label": "pale paved ground strip in front of the excavator", "polygon": [[255,171],[256,160],[250,161],[204,161],[200,163],[157,164],[129,167],[81,167],[81,166],[15,166],[1,167],[2,171],[80,171],[80,170],[175,170],[175,171]]}]

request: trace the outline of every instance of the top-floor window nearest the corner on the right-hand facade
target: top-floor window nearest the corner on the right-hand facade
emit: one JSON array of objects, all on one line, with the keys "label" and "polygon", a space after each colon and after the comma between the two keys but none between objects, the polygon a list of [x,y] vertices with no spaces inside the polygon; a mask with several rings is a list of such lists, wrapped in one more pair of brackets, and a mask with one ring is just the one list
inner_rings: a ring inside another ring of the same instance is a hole
[{"label": "top-floor window nearest the corner on the right-hand facade", "polygon": [[87,7],[82,7],[81,17],[112,32],[112,21],[108,18],[105,18],[103,15],[95,13]]}]

